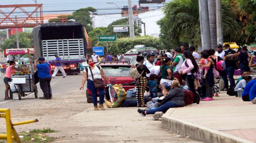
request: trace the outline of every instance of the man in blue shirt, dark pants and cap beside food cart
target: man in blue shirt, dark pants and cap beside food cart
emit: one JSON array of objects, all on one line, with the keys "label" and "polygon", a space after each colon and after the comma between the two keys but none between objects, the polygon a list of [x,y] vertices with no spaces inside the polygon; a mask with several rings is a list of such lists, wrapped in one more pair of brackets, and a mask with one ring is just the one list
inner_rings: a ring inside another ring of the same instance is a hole
[{"label": "man in blue shirt, dark pants and cap beside food cart", "polygon": [[[37,61],[39,62],[38,65],[36,65]],[[38,69],[39,84],[40,84],[40,88],[42,89],[42,92],[44,93],[44,96],[39,97],[39,98],[40,99],[51,99],[50,65],[45,62],[44,57],[40,57],[34,61],[34,67]]]}]

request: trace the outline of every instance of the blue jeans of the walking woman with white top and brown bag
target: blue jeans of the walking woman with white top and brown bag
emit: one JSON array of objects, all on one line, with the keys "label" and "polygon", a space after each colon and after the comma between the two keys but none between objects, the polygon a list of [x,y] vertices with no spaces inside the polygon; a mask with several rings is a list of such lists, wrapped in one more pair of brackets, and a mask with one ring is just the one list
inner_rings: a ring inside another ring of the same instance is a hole
[{"label": "blue jeans of the walking woman with white top and brown bag", "polygon": [[[89,80],[89,79],[87,80],[87,88],[92,93],[93,105],[97,106],[97,89],[95,88],[92,80]],[[98,91],[99,91],[99,99],[100,99],[99,103],[103,104],[105,91],[104,89],[98,89]]]}]

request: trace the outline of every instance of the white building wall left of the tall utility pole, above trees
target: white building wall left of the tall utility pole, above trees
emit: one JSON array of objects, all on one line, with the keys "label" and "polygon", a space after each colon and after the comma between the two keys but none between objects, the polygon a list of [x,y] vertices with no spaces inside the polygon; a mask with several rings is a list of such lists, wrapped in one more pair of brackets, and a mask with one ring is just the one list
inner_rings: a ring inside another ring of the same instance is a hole
[{"label": "white building wall left of the tall utility pole, above trees", "polygon": [[115,20],[119,20],[125,17],[122,17],[121,13],[117,14],[93,14],[92,21],[93,21],[93,28],[96,27],[107,27],[110,23]]}]

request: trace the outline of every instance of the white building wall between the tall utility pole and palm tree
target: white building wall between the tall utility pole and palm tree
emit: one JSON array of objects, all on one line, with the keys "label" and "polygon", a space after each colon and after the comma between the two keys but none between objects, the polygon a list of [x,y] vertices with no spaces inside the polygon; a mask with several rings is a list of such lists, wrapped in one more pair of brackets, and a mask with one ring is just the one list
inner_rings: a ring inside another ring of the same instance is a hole
[{"label": "white building wall between the tall utility pole and palm tree", "polygon": [[[138,14],[138,18],[141,19],[142,22],[145,23],[146,26],[146,35],[151,35],[154,37],[158,37],[160,34],[160,28],[157,25],[157,21],[163,18],[164,14],[162,9],[151,10],[145,13]],[[144,25],[141,26],[142,33],[144,35]]]}]

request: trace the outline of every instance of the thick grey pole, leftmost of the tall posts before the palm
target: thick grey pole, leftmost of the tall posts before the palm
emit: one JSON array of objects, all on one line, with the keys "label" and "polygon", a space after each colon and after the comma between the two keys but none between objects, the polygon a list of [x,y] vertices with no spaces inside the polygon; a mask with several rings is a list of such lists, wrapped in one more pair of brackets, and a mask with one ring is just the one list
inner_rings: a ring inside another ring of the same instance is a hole
[{"label": "thick grey pole, leftmost of the tall posts before the palm", "polygon": [[211,35],[207,0],[199,0],[200,31],[203,50],[211,49]]}]

